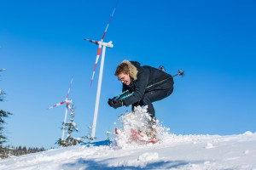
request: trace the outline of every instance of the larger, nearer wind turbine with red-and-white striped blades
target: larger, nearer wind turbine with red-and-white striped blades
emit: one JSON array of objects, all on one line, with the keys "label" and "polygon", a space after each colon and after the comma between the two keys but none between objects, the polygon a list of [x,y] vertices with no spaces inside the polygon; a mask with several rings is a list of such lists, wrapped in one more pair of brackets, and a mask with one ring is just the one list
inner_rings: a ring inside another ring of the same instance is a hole
[{"label": "larger, nearer wind turbine with red-and-white striped blades", "polygon": [[[116,6],[115,6],[115,8],[116,8]],[[115,8],[113,9],[113,13],[115,11]],[[112,15],[110,17],[110,20],[108,21],[108,26],[109,26],[109,23],[110,23],[110,21],[111,21],[111,19],[113,17],[113,13],[112,13]],[[102,88],[102,75],[103,75],[103,67],[104,67],[104,59],[105,59],[106,47],[107,48],[113,48],[113,44],[112,44],[111,41],[110,42],[103,42],[103,39],[104,39],[104,37],[106,35],[106,32],[108,30],[108,26],[107,26],[106,30],[104,31],[104,34],[102,36],[101,41],[94,41],[94,40],[90,40],[90,39],[84,39],[86,41],[93,42],[93,43],[95,43],[96,45],[99,46],[98,53],[96,55],[96,63],[95,63],[95,66],[94,66],[94,71],[93,71],[92,77],[91,77],[90,87],[91,87],[91,84],[92,84],[92,81],[93,81],[93,77],[94,77],[94,74],[95,74],[95,71],[96,71],[96,65],[97,65],[98,59],[99,59],[99,57],[101,55],[101,52],[102,52],[101,68],[100,68],[98,87],[97,87],[97,93],[96,93],[96,105],[95,105],[95,110],[94,110],[93,124],[92,124],[92,131],[91,131],[91,138],[92,139],[95,138],[95,133],[96,133],[96,122],[97,122],[97,115],[98,115],[100,95],[101,95],[101,88]]]}]

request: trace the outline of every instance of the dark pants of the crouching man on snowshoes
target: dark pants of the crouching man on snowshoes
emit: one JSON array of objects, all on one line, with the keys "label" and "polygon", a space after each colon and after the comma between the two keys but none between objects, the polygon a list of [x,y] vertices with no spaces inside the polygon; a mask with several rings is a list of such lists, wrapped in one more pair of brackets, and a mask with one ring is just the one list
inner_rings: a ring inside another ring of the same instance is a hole
[{"label": "dark pants of the crouching man on snowshoes", "polygon": [[153,120],[155,120],[155,111],[154,111],[154,106],[153,106],[153,102],[154,101],[158,101],[161,99],[165,99],[166,97],[168,97],[169,95],[171,95],[173,92],[173,87],[172,88],[167,88],[164,90],[153,90],[150,92],[147,92],[143,95],[143,99],[141,99],[139,102],[132,104],[132,111],[134,111],[134,107],[140,105],[148,105],[148,114],[149,116],[151,116],[153,118]]}]

